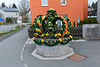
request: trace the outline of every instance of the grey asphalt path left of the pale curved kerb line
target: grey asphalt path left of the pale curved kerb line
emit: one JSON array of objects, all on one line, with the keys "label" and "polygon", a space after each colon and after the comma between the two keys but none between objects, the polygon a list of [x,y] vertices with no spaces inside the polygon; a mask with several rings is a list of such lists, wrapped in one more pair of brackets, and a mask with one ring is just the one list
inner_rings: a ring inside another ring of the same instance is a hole
[{"label": "grey asphalt path left of the pale curved kerb line", "polygon": [[20,54],[28,38],[27,28],[0,42],[0,67],[24,67]]}]

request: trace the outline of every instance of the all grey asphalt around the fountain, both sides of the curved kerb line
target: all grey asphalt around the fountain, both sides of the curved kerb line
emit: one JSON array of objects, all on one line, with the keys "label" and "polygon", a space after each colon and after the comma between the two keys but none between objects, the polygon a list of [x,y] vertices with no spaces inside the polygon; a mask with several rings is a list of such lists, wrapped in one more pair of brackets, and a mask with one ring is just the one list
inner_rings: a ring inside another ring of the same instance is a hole
[{"label": "all grey asphalt around the fountain, both sides of the curved kerb line", "polygon": [[[27,40],[27,28],[0,42],[0,67],[24,67],[20,60],[22,47]],[[76,53],[87,59],[76,62],[71,59],[60,61],[42,61],[31,55],[35,44],[26,44],[23,58],[28,67],[99,67],[100,41],[70,43]]]}]

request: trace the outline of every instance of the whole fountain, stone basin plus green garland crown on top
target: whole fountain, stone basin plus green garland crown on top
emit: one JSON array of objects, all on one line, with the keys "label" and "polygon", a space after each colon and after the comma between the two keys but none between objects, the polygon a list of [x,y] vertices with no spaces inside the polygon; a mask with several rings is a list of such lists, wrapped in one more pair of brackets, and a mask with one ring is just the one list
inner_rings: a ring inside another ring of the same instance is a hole
[{"label": "whole fountain, stone basin plus green garland crown on top", "polygon": [[61,60],[74,54],[73,49],[69,47],[72,36],[68,18],[57,16],[56,11],[51,8],[46,16],[38,16],[33,26],[33,41],[36,44],[33,56],[42,60]]}]

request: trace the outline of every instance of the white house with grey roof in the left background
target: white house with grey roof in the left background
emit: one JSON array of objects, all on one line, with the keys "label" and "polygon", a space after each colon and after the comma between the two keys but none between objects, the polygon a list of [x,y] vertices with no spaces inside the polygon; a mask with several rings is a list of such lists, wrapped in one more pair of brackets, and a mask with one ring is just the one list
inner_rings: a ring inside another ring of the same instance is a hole
[{"label": "white house with grey roof in the left background", "polygon": [[4,19],[19,17],[19,10],[17,8],[1,8],[0,12],[3,13]]}]

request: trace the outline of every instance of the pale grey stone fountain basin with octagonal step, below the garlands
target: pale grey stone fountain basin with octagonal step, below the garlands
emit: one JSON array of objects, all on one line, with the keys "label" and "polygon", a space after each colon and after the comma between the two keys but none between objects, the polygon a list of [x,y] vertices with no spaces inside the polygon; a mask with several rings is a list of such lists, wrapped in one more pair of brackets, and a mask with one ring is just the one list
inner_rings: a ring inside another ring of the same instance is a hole
[{"label": "pale grey stone fountain basin with octagonal step, below the garlands", "polygon": [[74,55],[72,48],[67,45],[56,45],[48,47],[45,45],[36,45],[36,49],[32,52],[32,55],[41,60],[62,60],[71,55]]}]

